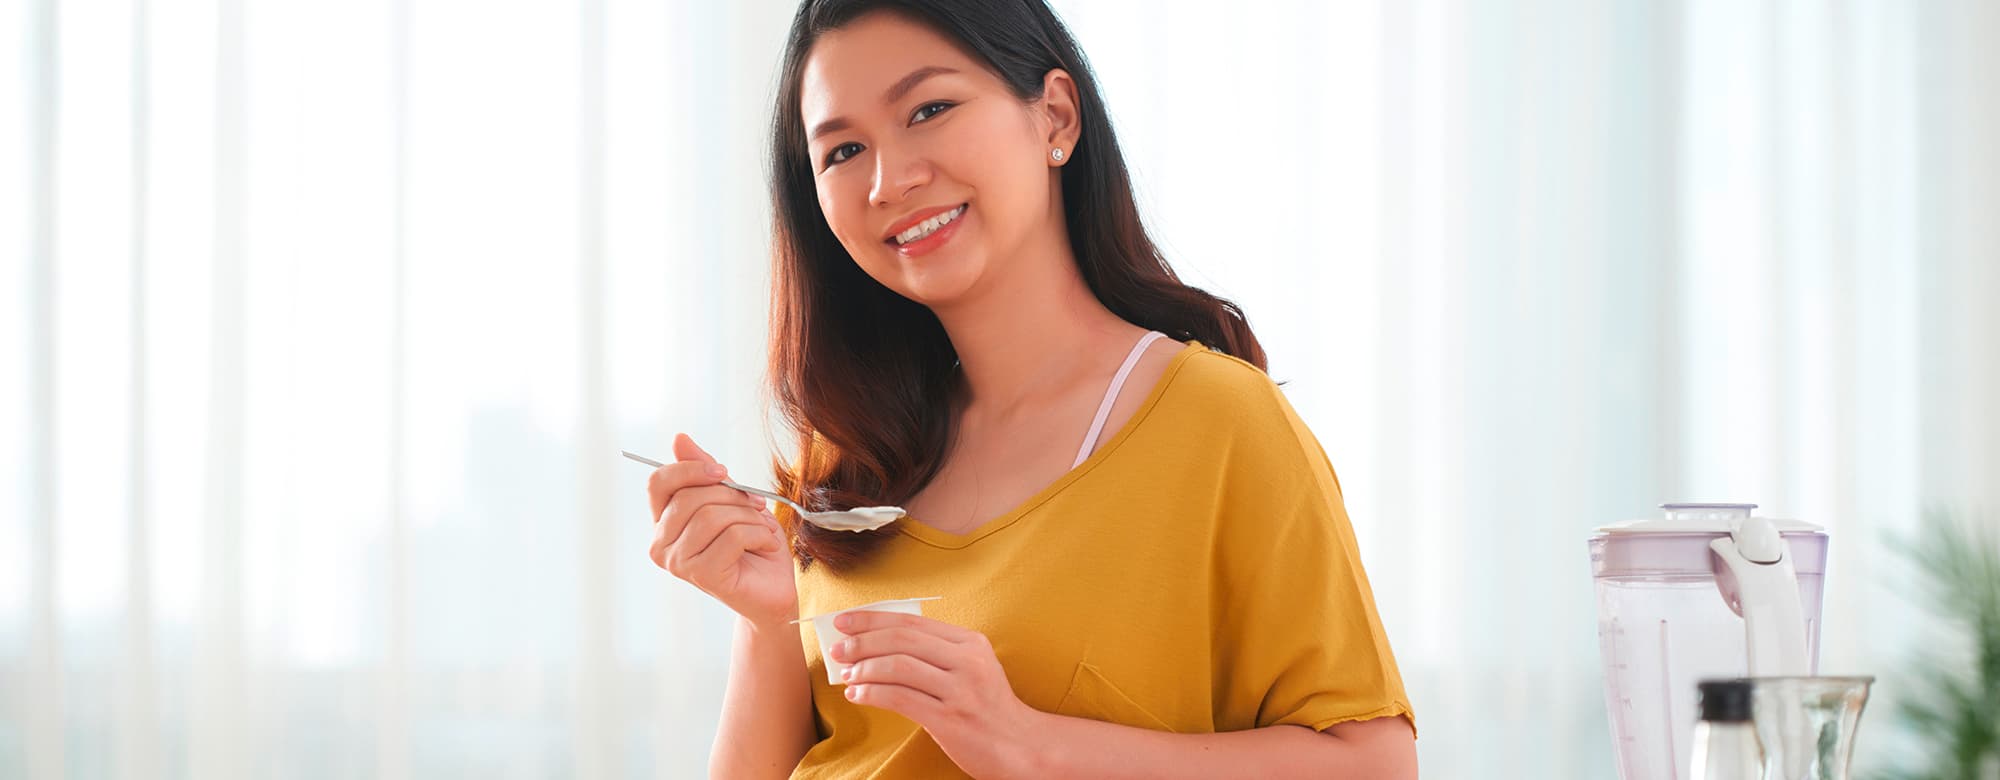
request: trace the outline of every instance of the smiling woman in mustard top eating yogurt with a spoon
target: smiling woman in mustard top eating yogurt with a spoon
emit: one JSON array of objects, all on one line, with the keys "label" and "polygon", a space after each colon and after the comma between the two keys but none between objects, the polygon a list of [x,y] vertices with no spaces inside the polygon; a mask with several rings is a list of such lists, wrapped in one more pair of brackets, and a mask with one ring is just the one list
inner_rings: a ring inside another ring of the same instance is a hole
[{"label": "smiling woman in mustard top eating yogurt with a spoon", "polygon": [[[1332,466],[1146,236],[1054,12],[808,0],[772,136],[778,488],[908,516],[772,516],[676,438],[654,562],[740,614],[712,774],[1416,774]],[[788,624],[914,596],[842,618],[842,684]]]}]

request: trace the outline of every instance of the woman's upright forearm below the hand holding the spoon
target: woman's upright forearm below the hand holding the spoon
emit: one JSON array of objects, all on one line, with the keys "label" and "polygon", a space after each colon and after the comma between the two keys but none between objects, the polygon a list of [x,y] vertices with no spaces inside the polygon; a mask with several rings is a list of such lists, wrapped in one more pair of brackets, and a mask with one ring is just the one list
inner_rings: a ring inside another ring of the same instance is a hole
[{"label": "woman's upright forearm below the hand holding the spoon", "polygon": [[736,618],[712,778],[784,778],[812,748],[812,680],[798,626]]}]

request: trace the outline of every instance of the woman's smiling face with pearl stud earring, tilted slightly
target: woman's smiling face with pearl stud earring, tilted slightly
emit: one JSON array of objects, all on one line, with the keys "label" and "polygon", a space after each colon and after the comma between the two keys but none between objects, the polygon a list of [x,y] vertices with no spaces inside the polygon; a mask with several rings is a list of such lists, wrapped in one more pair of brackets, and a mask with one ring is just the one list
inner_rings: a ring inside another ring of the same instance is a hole
[{"label": "woman's smiling face with pearl stud earring, tilted slightly", "polygon": [[1062,228],[1050,150],[1074,134],[938,32],[866,14],[820,36],[800,86],[820,212],[904,298],[964,300]]}]

